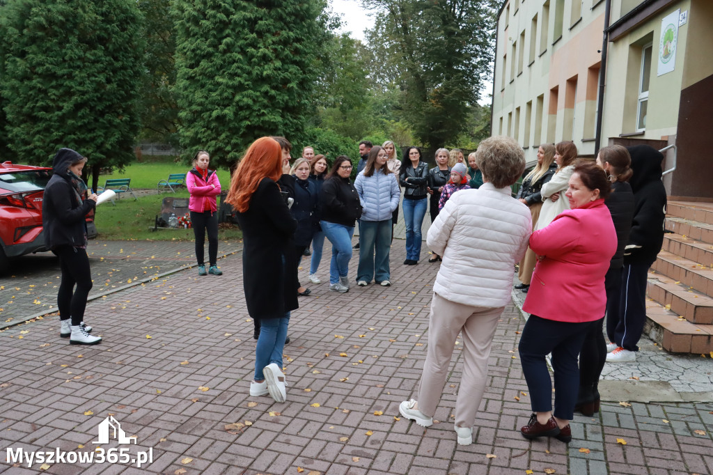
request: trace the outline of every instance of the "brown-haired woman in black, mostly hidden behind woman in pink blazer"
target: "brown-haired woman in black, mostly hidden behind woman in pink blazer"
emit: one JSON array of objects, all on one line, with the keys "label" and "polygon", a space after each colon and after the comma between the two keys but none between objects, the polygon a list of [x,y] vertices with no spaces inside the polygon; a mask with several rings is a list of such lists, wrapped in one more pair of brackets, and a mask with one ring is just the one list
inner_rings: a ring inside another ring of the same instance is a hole
[{"label": "brown-haired woman in black, mostly hidden behind woman in pink blazer", "polygon": [[[607,326],[608,322],[618,314],[621,293],[621,275],[624,247],[629,239],[631,220],[634,215],[634,193],[627,180],[631,178],[631,158],[629,152],[621,145],[610,145],[599,150],[597,165],[604,168],[612,182],[612,194],[605,201],[612,215],[614,229],[617,232],[617,252],[609,263],[609,270],[604,277],[604,287],[607,292]],[[602,375],[607,359],[607,344],[605,344],[604,315],[593,322],[580,352],[580,388],[575,405],[575,412],[585,416],[593,416],[599,411],[599,378]]]}]

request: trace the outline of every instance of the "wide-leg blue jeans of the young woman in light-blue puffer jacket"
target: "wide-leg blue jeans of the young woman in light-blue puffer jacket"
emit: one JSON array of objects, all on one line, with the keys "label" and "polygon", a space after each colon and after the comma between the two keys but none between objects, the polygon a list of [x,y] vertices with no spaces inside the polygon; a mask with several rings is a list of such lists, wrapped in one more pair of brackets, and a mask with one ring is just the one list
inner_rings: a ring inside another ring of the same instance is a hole
[{"label": "wide-leg blue jeans of the young woman in light-blue puffer jacket", "polygon": [[[356,282],[371,279],[380,283],[389,280],[389,250],[391,250],[391,218],[384,221],[361,220],[359,226],[359,267]],[[376,256],[374,256],[376,254]]]}]

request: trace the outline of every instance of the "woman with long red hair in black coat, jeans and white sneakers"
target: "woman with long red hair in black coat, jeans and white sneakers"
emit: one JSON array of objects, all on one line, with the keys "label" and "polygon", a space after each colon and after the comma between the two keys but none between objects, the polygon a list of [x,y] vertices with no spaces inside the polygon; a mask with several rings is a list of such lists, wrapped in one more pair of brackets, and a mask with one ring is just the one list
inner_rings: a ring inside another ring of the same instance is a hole
[{"label": "woman with long red hair in black coat, jeans and white sneakers", "polygon": [[[242,275],[247,313],[260,321],[255,347],[255,379],[250,395],[270,393],[276,402],[287,394],[282,350],[289,312],[297,305],[297,262],[292,238],[297,222],[282,199],[282,149],[275,139],[258,138],[232,176],[225,201],[237,211],[242,229]],[[282,295],[282,298],[279,296]],[[277,296],[277,298],[276,298]]]}]

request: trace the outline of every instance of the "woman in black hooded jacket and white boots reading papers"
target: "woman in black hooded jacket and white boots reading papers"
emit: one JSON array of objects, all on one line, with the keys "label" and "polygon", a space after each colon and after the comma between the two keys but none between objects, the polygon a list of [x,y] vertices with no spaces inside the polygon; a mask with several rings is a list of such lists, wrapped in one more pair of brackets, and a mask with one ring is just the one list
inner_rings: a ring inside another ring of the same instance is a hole
[{"label": "woman in black hooded jacket and white boots reading papers", "polygon": [[87,187],[80,177],[86,161],[71,148],[61,148],[54,155],[54,173],[42,200],[45,246],[59,257],[62,269],[57,292],[59,336],[69,337],[69,344],[101,343],[101,337],[93,337],[92,328],[83,322],[92,287],[85,217],[96,208],[97,198],[94,193],[84,198]]}]

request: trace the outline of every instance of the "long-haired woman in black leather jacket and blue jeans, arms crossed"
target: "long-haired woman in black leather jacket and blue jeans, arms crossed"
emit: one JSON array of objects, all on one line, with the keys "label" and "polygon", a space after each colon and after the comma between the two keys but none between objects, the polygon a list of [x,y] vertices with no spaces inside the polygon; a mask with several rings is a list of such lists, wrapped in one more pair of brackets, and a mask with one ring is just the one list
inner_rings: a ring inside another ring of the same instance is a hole
[{"label": "long-haired woman in black leather jacket and blue jeans, arms crossed", "polygon": [[421,225],[428,206],[429,166],[421,161],[421,149],[406,148],[401,162],[399,183],[404,191],[404,221],[406,222],[405,265],[416,265],[421,258]]}]

